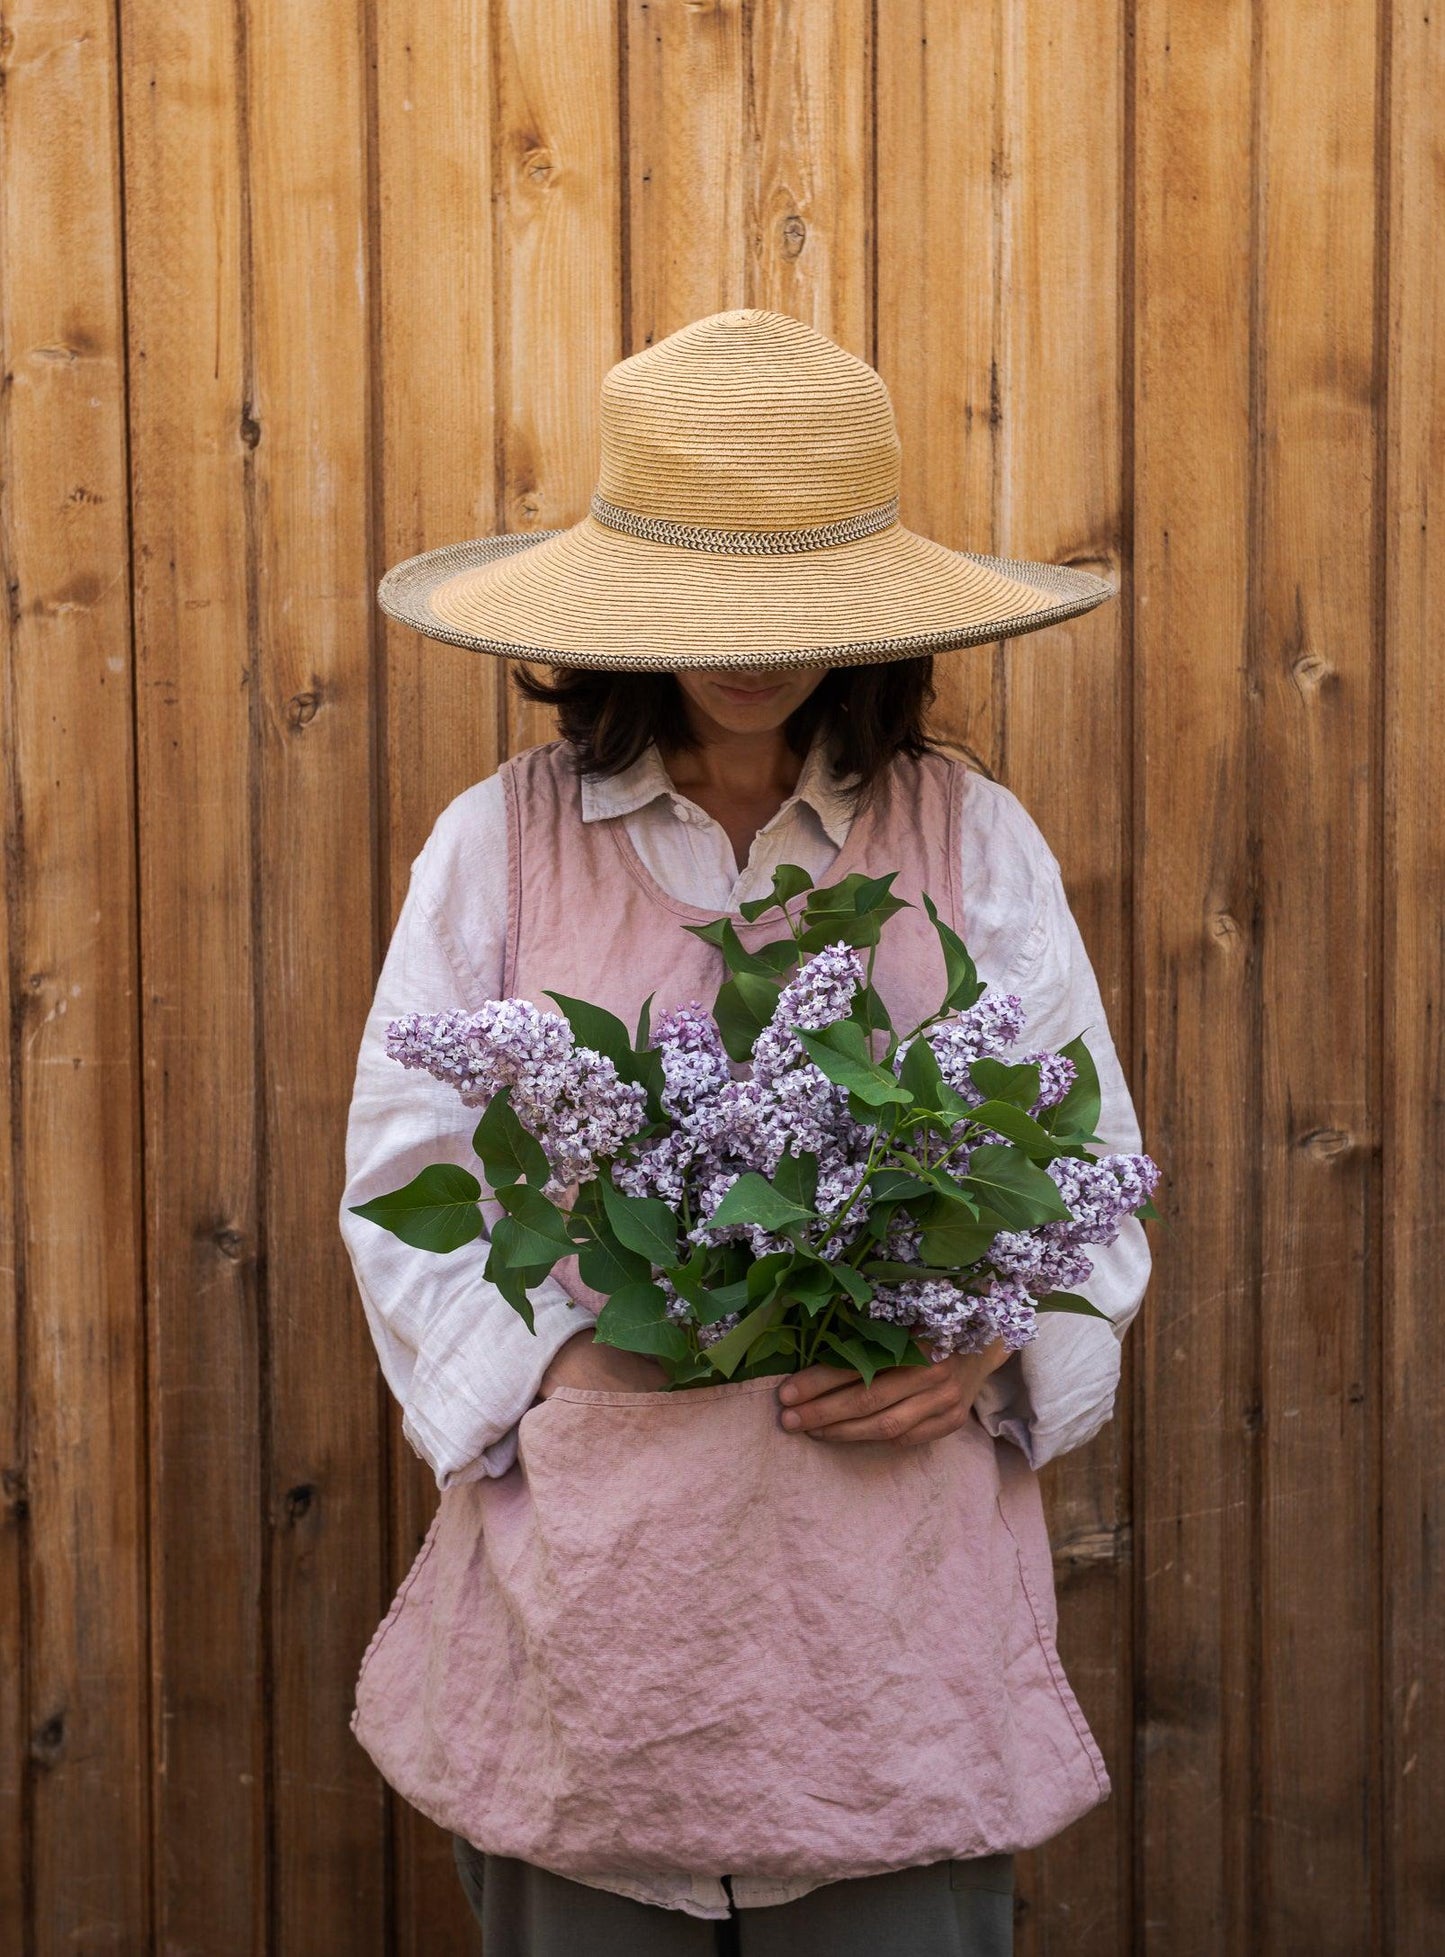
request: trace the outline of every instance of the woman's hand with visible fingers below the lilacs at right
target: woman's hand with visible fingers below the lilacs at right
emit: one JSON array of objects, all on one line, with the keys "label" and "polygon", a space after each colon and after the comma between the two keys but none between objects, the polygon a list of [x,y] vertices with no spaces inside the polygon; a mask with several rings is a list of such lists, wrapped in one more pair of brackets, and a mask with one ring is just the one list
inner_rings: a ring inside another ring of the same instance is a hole
[{"label": "woman's hand with visible fingers below the lilacs at right", "polygon": [[967,1421],[975,1393],[1006,1358],[1008,1346],[995,1339],[983,1352],[954,1352],[932,1366],[887,1366],[871,1386],[844,1366],[805,1366],[777,1388],[783,1427],[813,1440],[891,1440],[905,1448],[940,1440]]}]

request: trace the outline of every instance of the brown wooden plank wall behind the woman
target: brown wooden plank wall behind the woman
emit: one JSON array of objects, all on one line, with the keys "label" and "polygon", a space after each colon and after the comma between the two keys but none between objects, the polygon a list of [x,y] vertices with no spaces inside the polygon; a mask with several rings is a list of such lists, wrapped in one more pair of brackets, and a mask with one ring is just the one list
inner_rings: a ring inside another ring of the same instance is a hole
[{"label": "brown wooden plank wall behind the woman", "polygon": [[914,528],[1122,585],[938,661],[1169,1170],[1020,1953],[1441,1947],[1439,22],[14,0],[0,82],[0,1947],[478,1949],[347,1730],[437,1497],[335,1204],[409,865],[550,728],[372,589],[576,521],[732,305],[879,368]]}]

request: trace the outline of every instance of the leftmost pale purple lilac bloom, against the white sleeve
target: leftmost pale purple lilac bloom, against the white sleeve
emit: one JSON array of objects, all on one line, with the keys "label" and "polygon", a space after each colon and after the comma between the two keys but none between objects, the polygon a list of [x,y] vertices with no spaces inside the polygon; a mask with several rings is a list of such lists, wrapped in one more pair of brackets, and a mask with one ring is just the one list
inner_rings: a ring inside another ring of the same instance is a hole
[{"label": "leftmost pale purple lilac bloom, against the white sleeve", "polygon": [[454,1086],[468,1108],[511,1088],[513,1114],[552,1166],[542,1186],[552,1198],[589,1182],[601,1157],[630,1141],[646,1114],[646,1094],[634,1080],[623,1080],[605,1055],[580,1047],[560,1014],[519,998],[491,998],[472,1014],[403,1014],[388,1025],[386,1051]]}]

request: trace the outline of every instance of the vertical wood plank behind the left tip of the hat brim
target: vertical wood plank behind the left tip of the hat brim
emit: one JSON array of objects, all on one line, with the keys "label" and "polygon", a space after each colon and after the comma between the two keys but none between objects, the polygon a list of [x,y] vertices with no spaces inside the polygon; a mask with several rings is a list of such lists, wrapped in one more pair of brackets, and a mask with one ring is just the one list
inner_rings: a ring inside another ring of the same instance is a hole
[{"label": "vertical wood plank behind the left tip of the hat brim", "polygon": [[[378,568],[497,528],[493,12],[493,4],[456,10],[376,0]],[[378,626],[372,986],[431,824],[501,759],[505,681],[495,660],[427,642],[384,618]],[[360,1020],[352,1020],[352,1043],[358,1039]],[[360,1313],[358,1299],[352,1311]],[[380,1384],[378,1395],[392,1532],[374,1599],[380,1620],[421,1548],[437,1483],[401,1438],[399,1409]],[[478,1951],[446,1836],[407,1802],[390,1806],[397,1951]]]}]

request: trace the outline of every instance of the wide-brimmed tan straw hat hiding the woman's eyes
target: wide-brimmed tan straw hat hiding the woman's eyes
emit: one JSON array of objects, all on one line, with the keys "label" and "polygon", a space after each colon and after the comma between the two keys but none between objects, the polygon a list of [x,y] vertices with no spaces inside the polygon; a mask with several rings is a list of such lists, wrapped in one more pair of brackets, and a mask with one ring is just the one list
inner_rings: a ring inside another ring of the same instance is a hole
[{"label": "wide-brimmed tan straw hat hiding the woman's eyes", "polygon": [[1018,638],[1114,597],[1093,571],[899,523],[883,380],[787,313],[711,313],[609,368],[601,472],[566,530],[394,566],[382,609],[550,665],[863,665]]}]

